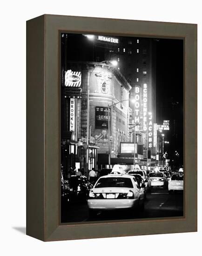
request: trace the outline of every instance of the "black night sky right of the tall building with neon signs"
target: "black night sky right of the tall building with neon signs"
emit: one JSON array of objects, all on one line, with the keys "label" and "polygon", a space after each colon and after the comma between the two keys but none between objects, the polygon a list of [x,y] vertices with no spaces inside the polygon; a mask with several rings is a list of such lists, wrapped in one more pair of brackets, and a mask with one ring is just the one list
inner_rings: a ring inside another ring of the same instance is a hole
[{"label": "black night sky right of the tall building with neon signs", "polygon": [[170,142],[166,149],[170,156],[176,150],[182,162],[183,40],[160,39],[156,47],[156,121],[171,121],[170,130],[164,132]]}]

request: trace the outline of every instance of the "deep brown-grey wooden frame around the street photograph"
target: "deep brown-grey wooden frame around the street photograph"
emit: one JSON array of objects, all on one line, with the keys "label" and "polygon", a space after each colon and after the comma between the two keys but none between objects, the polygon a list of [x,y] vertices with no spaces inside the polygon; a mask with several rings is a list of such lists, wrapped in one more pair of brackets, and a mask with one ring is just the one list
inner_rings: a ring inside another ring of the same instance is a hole
[{"label": "deep brown-grey wooden frame around the street photograph", "polygon": [[[184,41],[184,216],[60,223],[59,34]],[[27,21],[27,235],[42,241],[197,231],[197,25],[42,15]]]}]

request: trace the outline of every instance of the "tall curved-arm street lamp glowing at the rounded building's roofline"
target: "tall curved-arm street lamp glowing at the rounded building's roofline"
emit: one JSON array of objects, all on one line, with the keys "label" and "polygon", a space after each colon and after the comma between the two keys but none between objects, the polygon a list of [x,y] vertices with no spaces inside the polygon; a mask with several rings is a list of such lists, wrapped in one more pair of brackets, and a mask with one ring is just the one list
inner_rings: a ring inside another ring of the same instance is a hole
[{"label": "tall curved-arm street lamp glowing at the rounded building's roofline", "polygon": [[[86,35],[87,36],[87,35]],[[88,38],[91,35],[88,35]],[[93,38],[92,38],[93,39]],[[88,76],[88,84],[87,84],[87,153],[86,153],[86,170],[87,170],[87,176],[88,176],[88,158],[89,158],[89,92],[90,92],[90,78],[91,75],[93,74],[93,71],[96,67],[98,67],[99,65],[101,65],[102,63],[105,63],[107,66],[116,66],[117,65],[117,61],[101,61],[98,64],[96,64],[94,66],[94,68],[92,69],[92,71],[90,72],[90,75]]]}]

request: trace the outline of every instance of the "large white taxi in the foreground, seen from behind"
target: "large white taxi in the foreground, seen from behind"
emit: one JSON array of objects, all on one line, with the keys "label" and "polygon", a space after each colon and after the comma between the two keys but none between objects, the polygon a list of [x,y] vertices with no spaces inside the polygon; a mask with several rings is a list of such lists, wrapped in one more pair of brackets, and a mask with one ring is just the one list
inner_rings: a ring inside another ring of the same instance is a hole
[{"label": "large white taxi in the foreground, seen from behind", "polygon": [[88,197],[89,216],[100,210],[134,209],[135,213],[143,208],[144,191],[132,175],[102,176]]}]

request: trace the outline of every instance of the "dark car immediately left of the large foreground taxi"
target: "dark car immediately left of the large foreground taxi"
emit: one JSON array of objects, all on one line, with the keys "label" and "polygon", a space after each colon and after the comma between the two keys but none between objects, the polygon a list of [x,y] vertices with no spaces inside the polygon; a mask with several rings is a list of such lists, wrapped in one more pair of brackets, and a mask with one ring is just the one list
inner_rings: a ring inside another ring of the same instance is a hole
[{"label": "dark car immediately left of the large foreground taxi", "polygon": [[89,182],[86,176],[71,176],[71,200],[87,201],[91,188],[93,188],[93,185]]}]

